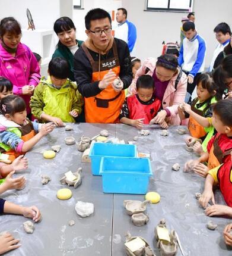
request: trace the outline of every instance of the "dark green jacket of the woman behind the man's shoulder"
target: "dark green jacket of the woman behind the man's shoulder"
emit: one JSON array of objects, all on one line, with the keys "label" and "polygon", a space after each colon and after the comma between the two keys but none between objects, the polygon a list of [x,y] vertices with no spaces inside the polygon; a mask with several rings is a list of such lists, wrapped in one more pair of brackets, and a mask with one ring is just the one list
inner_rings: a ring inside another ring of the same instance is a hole
[{"label": "dark green jacket of the woman behind the man's shoulder", "polygon": [[[83,41],[76,40],[78,43],[78,47],[81,47]],[[59,41],[56,51],[53,53],[52,58],[61,57],[65,58],[66,61],[68,61],[70,65],[70,74],[69,79],[71,81],[75,81],[74,78],[74,55],[72,55],[72,52],[69,50],[69,48],[65,45],[62,45],[62,43]]]}]

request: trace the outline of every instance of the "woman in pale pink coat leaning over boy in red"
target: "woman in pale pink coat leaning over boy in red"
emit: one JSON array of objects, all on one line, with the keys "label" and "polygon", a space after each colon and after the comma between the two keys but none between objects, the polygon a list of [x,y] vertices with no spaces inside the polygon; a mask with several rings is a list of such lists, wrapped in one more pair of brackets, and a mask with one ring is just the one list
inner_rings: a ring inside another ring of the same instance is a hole
[{"label": "woman in pale pink coat leaning over boy in red", "polygon": [[148,58],[136,72],[134,85],[142,74],[154,78],[155,98],[161,100],[163,107],[151,123],[163,123],[166,120],[168,124],[179,125],[177,108],[185,102],[187,77],[178,67],[177,58],[171,54],[161,55],[157,59]]}]

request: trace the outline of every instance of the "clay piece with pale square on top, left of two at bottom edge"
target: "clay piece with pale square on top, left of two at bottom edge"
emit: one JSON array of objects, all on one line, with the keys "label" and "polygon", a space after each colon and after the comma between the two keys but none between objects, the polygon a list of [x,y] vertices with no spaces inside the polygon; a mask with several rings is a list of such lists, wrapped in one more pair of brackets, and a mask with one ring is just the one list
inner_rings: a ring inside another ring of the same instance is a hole
[{"label": "clay piece with pale square on top, left of two at bottom edge", "polygon": [[126,255],[128,256],[155,256],[148,242],[141,236],[131,236],[126,233],[124,243]]}]

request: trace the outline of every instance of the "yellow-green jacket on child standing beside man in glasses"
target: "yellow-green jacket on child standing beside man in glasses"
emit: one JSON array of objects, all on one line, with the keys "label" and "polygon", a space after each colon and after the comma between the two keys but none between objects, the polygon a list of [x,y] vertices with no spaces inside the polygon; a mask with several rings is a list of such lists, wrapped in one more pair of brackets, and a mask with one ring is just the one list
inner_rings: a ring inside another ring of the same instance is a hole
[{"label": "yellow-green jacket on child standing beside man in glasses", "polygon": [[67,79],[61,89],[56,89],[52,86],[50,77],[47,77],[47,80],[42,77],[30,101],[31,113],[36,118],[40,119],[40,115],[45,113],[69,123],[75,123],[69,112],[76,110],[80,114],[83,104],[84,99],[75,83]]}]

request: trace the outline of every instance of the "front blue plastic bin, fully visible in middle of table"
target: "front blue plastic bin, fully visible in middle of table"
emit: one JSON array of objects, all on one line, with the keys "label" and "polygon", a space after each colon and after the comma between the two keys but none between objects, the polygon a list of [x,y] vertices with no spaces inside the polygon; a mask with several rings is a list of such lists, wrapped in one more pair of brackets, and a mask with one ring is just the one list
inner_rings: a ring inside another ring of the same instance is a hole
[{"label": "front blue plastic bin, fully visible in middle of table", "polygon": [[148,158],[103,157],[100,164],[104,193],[145,194],[152,176]]}]

